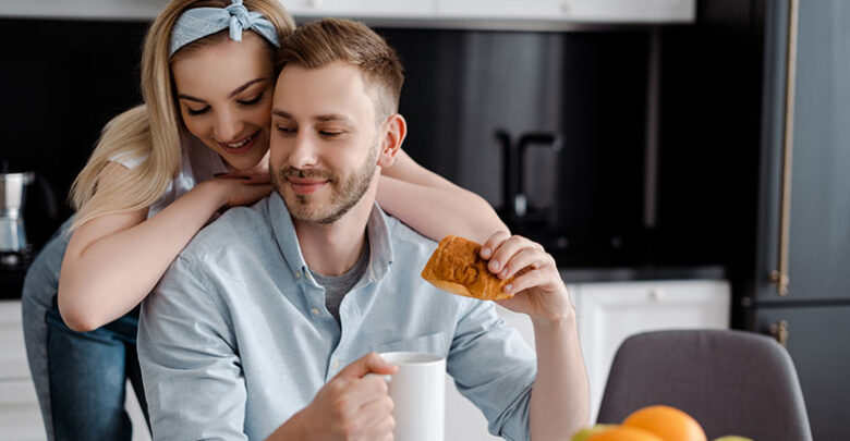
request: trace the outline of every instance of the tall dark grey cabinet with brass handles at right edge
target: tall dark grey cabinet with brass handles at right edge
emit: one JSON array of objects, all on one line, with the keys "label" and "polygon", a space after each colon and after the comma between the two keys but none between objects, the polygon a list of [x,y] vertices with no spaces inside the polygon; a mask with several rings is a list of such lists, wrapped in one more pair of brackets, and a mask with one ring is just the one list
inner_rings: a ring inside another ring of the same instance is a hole
[{"label": "tall dark grey cabinet with brass handles at right edge", "polygon": [[[801,0],[796,11],[790,1],[755,4],[764,12],[764,97],[755,265],[739,298],[742,323],[787,344],[814,439],[843,440],[850,433],[850,8],[843,0]],[[793,19],[797,58],[789,70]]]}]

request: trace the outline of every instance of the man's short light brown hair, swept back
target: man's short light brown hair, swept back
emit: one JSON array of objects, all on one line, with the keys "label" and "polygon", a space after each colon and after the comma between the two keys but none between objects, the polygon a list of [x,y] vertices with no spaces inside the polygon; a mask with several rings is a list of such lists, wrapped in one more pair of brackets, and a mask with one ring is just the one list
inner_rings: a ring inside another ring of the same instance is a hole
[{"label": "man's short light brown hair, swept back", "polygon": [[378,121],[398,112],[401,62],[381,36],[363,23],[342,19],[324,19],[299,26],[281,42],[283,66],[324,68],[336,61],[354,64],[367,87],[377,94],[375,113]]}]

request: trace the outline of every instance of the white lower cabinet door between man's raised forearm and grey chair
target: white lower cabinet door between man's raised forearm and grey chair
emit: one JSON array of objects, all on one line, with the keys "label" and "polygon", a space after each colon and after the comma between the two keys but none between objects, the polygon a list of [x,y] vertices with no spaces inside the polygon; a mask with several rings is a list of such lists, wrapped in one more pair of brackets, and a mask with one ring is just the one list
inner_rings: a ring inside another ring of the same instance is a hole
[{"label": "white lower cabinet door between man's raised forearm and grey chair", "polygon": [[593,420],[614,355],[628,336],[660,329],[729,328],[725,281],[585,283],[575,297]]}]

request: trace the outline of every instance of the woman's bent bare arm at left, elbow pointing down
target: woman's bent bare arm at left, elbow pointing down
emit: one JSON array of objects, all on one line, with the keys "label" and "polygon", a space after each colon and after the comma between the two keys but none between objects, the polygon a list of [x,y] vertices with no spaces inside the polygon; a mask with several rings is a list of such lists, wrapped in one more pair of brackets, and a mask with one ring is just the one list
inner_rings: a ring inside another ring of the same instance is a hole
[{"label": "woman's bent bare arm at left, elbow pointing down", "polygon": [[[109,163],[99,188],[130,171]],[[171,261],[223,206],[267,195],[269,185],[206,181],[150,219],[147,209],[100,216],[74,230],[59,277],[59,310],[75,331],[90,331],[123,316],[154,289]]]}]

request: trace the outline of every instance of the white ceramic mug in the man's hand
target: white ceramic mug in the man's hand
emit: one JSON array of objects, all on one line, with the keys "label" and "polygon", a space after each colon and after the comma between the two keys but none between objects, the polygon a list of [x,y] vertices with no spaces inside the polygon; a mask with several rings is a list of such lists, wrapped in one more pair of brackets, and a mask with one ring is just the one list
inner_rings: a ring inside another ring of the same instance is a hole
[{"label": "white ceramic mug in the man's hand", "polygon": [[418,352],[385,352],[399,367],[387,376],[394,407],[396,441],[444,441],[446,358]]}]

